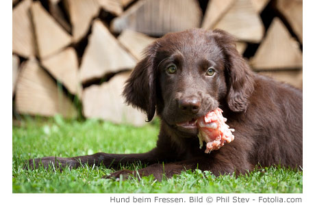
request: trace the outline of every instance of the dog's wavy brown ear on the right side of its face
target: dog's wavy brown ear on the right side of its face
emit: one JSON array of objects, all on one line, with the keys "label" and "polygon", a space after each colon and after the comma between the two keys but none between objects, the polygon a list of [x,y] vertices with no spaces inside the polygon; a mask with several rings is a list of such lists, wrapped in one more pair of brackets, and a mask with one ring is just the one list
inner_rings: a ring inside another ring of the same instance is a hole
[{"label": "dog's wavy brown ear on the right side of its face", "polygon": [[236,50],[236,38],[226,31],[213,31],[216,42],[223,48],[227,76],[227,104],[231,111],[246,111],[254,90],[253,72]]}]

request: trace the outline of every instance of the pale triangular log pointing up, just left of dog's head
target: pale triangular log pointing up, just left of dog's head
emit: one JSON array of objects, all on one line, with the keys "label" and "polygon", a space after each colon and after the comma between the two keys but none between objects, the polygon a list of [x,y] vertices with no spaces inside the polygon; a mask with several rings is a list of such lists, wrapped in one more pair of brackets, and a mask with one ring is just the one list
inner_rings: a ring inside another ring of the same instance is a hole
[{"label": "pale triangular log pointing up, just left of dog's head", "polygon": [[79,70],[81,82],[101,78],[110,72],[132,69],[134,66],[136,59],[121,47],[100,20],[95,20]]}]

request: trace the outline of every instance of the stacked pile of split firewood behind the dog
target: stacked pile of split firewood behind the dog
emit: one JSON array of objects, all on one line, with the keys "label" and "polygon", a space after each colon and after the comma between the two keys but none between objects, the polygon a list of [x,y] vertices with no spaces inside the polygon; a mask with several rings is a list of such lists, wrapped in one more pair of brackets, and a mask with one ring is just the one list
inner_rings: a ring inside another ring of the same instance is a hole
[{"label": "stacked pile of split firewood behind the dog", "polygon": [[192,27],[228,31],[253,70],[302,88],[302,10],[302,0],[12,1],[14,113],[140,126],[124,82],[146,46]]}]

